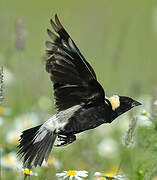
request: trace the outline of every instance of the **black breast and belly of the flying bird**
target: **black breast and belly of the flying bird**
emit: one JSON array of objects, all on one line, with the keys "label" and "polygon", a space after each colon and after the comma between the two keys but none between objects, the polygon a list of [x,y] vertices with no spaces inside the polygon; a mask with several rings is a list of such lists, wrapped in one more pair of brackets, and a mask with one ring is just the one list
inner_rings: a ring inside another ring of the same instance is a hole
[{"label": "black breast and belly of the flying bird", "polygon": [[110,122],[111,111],[105,104],[94,107],[82,107],[69,119],[69,123],[64,127],[64,132],[76,134]]}]

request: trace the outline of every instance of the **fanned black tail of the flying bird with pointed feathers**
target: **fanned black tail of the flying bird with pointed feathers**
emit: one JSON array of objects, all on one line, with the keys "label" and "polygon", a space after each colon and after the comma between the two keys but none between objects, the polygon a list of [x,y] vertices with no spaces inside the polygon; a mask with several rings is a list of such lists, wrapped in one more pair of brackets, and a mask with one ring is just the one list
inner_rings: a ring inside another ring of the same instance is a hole
[{"label": "fanned black tail of the flying bird with pointed feathers", "polygon": [[23,157],[24,166],[41,166],[43,160],[48,159],[56,137],[57,134],[42,125],[23,131],[18,154]]}]

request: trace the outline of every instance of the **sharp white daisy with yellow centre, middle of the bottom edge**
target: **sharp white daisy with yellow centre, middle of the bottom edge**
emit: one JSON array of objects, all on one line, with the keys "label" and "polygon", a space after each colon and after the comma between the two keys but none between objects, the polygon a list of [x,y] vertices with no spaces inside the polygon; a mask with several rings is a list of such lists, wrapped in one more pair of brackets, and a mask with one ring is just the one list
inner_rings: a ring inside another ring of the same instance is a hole
[{"label": "sharp white daisy with yellow centre, middle of the bottom edge", "polygon": [[64,171],[62,173],[57,173],[56,176],[63,179],[69,178],[69,180],[72,180],[73,178],[76,180],[82,180],[82,178],[88,177],[88,172],[69,170],[69,171]]}]

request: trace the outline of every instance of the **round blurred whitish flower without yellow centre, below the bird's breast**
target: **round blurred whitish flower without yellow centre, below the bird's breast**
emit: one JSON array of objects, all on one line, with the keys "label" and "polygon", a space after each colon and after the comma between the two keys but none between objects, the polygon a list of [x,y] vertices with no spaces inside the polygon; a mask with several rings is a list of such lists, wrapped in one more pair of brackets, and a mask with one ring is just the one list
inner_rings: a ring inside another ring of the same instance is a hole
[{"label": "round blurred whitish flower without yellow centre, below the bird's breast", "polygon": [[101,141],[98,145],[98,153],[101,156],[113,157],[117,152],[117,143],[111,138]]}]

